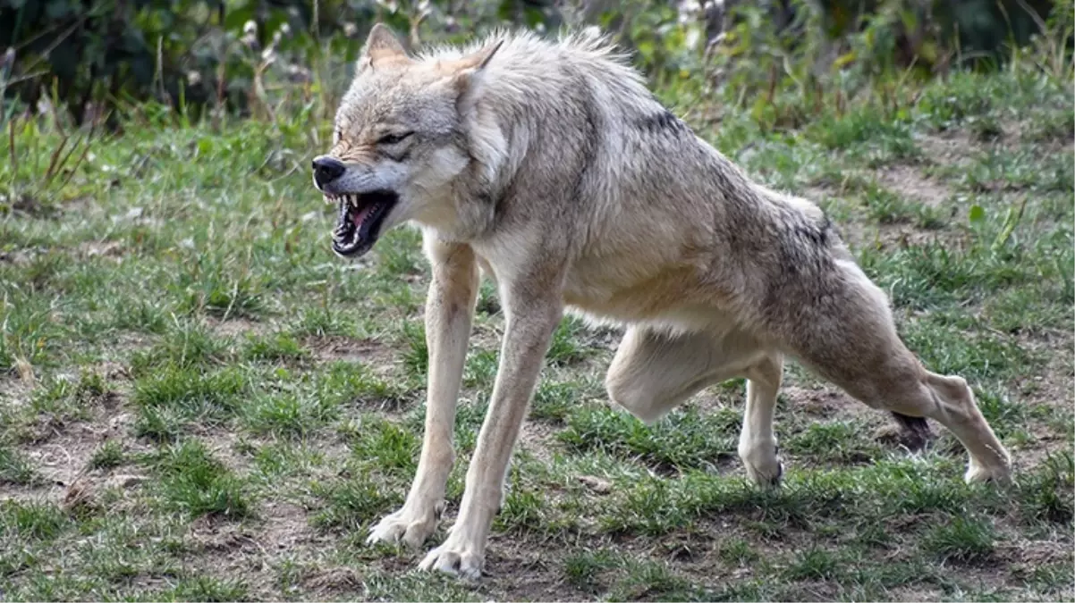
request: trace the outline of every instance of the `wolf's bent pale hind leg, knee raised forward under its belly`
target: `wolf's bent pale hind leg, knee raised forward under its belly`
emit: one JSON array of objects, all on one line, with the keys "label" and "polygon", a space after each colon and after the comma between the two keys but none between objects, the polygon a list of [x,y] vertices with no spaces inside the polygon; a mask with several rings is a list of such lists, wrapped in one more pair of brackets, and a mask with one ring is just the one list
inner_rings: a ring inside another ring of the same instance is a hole
[{"label": "wolf's bent pale hind leg, knee raised forward under its belly", "polygon": [[716,338],[632,326],[608,367],[605,386],[614,402],[643,423],[654,424],[704,387],[746,377],[739,452],[750,479],[772,485],[783,473],[773,436],[782,366],[778,354],[766,353],[741,332]]}]

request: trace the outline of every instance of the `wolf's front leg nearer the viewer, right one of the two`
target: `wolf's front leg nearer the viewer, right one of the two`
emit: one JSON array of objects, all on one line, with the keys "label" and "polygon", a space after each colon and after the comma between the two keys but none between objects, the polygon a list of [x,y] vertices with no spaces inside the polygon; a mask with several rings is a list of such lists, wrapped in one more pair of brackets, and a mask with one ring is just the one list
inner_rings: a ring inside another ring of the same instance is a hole
[{"label": "wolf's front leg nearer the viewer, right one of the two", "polygon": [[557,291],[543,291],[541,298],[520,299],[511,293],[505,297],[506,328],[500,349],[500,367],[489,410],[467,470],[467,488],[459,516],[444,543],[421,561],[422,570],[440,570],[471,579],[482,575],[486,540],[501,503],[507,464],[553,332],[562,317],[562,302]]}]

